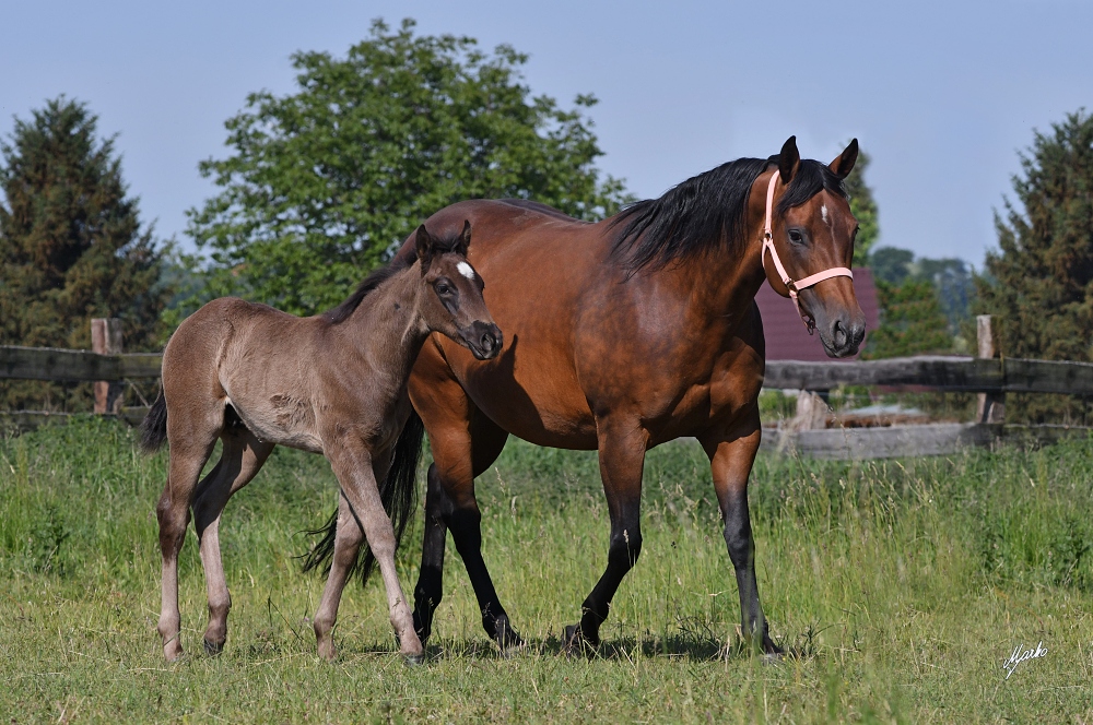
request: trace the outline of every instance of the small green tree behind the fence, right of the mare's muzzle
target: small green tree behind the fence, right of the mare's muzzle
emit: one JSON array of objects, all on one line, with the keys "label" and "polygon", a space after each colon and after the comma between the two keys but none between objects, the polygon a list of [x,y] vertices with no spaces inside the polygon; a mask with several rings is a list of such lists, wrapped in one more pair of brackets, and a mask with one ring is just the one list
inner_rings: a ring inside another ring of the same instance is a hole
[{"label": "small green tree behind the fence, right of the mare's muzzle", "polygon": [[908,278],[903,284],[877,281],[881,325],[869,333],[862,357],[903,357],[952,349],[953,337],[928,280]]}]

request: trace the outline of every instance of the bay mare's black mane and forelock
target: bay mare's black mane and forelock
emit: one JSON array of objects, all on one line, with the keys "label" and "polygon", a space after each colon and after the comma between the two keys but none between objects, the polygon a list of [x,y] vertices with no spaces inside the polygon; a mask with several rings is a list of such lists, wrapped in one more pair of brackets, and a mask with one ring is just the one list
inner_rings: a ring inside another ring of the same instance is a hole
[{"label": "bay mare's black mane and forelock", "polygon": [[[622,226],[612,252],[632,270],[662,269],[725,248],[740,252],[744,239],[748,197],[755,179],[778,165],[778,156],[738,158],[691,177],[659,199],[647,199],[615,215]],[[775,209],[784,214],[826,189],[846,198],[843,182],[825,164],[801,159],[797,174]]]}]

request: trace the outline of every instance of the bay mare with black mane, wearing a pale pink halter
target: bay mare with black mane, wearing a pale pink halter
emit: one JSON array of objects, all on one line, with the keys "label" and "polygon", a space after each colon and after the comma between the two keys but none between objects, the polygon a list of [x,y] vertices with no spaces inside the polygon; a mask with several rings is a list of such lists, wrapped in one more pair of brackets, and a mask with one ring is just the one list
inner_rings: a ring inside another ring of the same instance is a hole
[{"label": "bay mare with black mane, wearing a pale pink halter", "polygon": [[[490,280],[486,300],[506,343],[479,364],[434,335],[410,377],[433,452],[414,589],[423,642],[450,531],[486,633],[503,650],[520,644],[482,558],[474,499],[474,477],[509,433],[599,452],[608,566],[579,623],[566,628],[571,650],[599,643],[611,598],[642,551],[646,451],[693,436],[710,461],[742,633],[754,649],[779,652],[760,605],[748,514],[764,371],[754,298],[769,281],[799,304],[830,356],[857,352],[865,317],[849,266],[858,225],[843,189],[857,154],[855,140],[831,164],[802,161],[790,138],[776,156],[724,164],[595,224],[521,200],[466,201],[428,218],[447,233],[463,219],[474,225],[470,259]],[[397,258],[412,250],[408,243]]]}]

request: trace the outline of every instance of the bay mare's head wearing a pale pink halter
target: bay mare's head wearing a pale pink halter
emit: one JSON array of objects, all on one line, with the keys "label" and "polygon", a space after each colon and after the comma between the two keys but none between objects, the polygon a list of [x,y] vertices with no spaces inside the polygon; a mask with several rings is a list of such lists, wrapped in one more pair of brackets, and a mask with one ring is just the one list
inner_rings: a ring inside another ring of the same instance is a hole
[{"label": "bay mare's head wearing a pale pink halter", "polygon": [[820,331],[830,357],[854,355],[866,334],[850,277],[858,223],[842,183],[857,157],[855,139],[831,164],[801,161],[790,136],[773,176],[760,178],[766,192],[767,280],[779,295],[794,298],[809,333]]}]

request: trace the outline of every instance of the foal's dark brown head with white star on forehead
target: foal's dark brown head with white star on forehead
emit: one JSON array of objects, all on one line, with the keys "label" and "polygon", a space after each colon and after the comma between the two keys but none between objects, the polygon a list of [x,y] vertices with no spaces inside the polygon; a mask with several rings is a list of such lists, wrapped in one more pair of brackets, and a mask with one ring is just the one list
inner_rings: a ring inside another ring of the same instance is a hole
[{"label": "foal's dark brown head with white star on forehead", "polygon": [[418,227],[415,246],[425,290],[421,313],[430,330],[456,341],[480,360],[501,352],[503,338],[482,299],[485,284],[467,261],[471,223],[454,242],[439,242],[425,225]]}]

